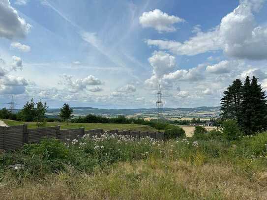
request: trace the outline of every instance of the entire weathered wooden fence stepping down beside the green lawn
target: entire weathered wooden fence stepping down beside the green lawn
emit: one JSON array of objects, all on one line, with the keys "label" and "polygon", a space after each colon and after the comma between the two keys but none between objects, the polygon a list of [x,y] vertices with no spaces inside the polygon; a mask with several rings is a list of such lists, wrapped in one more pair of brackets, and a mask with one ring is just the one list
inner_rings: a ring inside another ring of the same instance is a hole
[{"label": "entire weathered wooden fence stepping down beside the green lawn", "polygon": [[[18,126],[0,127],[0,149],[14,150],[22,147],[25,143],[38,143],[42,138],[58,138],[64,143],[73,139],[81,138],[83,135],[100,137],[103,129],[85,130],[85,128],[63,129],[60,126],[28,129],[27,124]],[[107,131],[109,134],[128,135],[135,138],[151,137],[156,140],[163,140],[164,132],[154,131],[118,131],[118,129]]]}]

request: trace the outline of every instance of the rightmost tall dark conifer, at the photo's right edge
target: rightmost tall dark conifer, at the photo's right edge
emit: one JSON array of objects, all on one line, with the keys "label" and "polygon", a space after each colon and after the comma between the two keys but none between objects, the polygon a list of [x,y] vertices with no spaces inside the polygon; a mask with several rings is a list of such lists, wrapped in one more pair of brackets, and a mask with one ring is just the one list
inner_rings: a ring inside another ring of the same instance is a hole
[{"label": "rightmost tall dark conifer, at the photo's right edge", "polygon": [[251,132],[267,129],[267,101],[265,92],[254,76],[251,80]]}]

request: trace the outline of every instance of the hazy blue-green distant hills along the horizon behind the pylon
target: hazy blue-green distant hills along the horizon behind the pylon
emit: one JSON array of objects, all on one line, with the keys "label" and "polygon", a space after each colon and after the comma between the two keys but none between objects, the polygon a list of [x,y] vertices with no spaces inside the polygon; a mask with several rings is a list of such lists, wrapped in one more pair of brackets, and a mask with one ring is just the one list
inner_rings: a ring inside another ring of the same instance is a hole
[{"label": "hazy blue-green distant hills along the horizon behind the pylon", "polygon": [[[196,107],[196,108],[163,108],[163,112],[218,112],[220,110],[220,107]],[[141,114],[141,113],[146,113],[146,114],[153,114],[157,112],[156,108],[140,108],[140,109],[99,109],[99,108],[92,108],[92,107],[73,107],[74,114],[77,115],[86,115],[86,114],[106,114],[106,115],[132,115],[132,114]],[[49,114],[58,114],[59,109],[49,109],[48,112]]]}]

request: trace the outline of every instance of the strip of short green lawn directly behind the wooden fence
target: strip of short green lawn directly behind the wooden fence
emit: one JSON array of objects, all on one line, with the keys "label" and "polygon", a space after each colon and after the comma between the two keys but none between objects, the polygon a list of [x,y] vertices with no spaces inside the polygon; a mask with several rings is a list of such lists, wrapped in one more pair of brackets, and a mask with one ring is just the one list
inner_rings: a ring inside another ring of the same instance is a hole
[{"label": "strip of short green lawn directly behind the wooden fence", "polygon": [[[2,119],[8,126],[15,126],[21,124],[28,124],[28,128],[37,128],[36,122],[23,122],[23,121],[14,121],[10,119]],[[155,129],[147,125],[139,124],[102,124],[102,123],[60,123],[60,122],[47,122],[46,126],[58,126],[60,129],[72,129],[85,127],[85,130],[103,128],[104,131],[107,130],[140,130],[140,131],[154,131]]]}]

